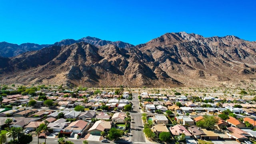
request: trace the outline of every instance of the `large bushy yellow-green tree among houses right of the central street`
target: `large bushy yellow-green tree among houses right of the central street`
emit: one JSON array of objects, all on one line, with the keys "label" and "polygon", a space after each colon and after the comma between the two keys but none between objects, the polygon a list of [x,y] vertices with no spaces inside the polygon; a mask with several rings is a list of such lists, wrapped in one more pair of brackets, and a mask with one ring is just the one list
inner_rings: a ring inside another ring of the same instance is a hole
[{"label": "large bushy yellow-green tree among houses right of the central street", "polygon": [[204,115],[203,117],[204,117],[203,120],[200,120],[200,121],[196,122],[196,125],[198,127],[211,129],[218,122],[218,118],[216,118],[216,116]]}]

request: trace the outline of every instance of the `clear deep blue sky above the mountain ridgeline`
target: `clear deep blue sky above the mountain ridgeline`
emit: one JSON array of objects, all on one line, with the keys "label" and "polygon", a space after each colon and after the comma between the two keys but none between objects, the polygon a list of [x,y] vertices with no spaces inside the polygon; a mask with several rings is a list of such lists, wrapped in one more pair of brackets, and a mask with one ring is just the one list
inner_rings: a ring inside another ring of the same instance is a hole
[{"label": "clear deep blue sky above the mountain ridgeline", "polygon": [[0,42],[92,36],[136,45],[181,31],[256,41],[256,0],[0,0]]}]

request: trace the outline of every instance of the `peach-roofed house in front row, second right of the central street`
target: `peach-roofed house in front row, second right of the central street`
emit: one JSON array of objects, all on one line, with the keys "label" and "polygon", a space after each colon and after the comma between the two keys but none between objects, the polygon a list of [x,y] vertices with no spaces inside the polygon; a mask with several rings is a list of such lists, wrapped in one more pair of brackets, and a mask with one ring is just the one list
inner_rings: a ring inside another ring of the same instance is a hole
[{"label": "peach-roofed house in front row, second right of the central street", "polygon": [[181,134],[185,134],[185,139],[192,139],[192,134],[190,134],[190,132],[180,124],[170,127],[170,131],[173,136],[179,136]]}]

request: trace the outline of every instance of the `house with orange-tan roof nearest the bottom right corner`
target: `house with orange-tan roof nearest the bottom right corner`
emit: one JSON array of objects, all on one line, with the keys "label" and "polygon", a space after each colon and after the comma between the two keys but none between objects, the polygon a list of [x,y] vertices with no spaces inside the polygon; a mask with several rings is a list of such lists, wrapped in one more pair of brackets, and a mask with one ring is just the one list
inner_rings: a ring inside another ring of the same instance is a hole
[{"label": "house with orange-tan roof nearest the bottom right corner", "polygon": [[244,142],[244,140],[248,140],[248,138],[246,136],[250,136],[250,134],[248,134],[247,132],[241,130],[240,128],[236,128],[236,127],[229,127],[228,129],[228,136],[231,136],[233,138],[235,138],[236,140],[238,140],[239,142]]}]

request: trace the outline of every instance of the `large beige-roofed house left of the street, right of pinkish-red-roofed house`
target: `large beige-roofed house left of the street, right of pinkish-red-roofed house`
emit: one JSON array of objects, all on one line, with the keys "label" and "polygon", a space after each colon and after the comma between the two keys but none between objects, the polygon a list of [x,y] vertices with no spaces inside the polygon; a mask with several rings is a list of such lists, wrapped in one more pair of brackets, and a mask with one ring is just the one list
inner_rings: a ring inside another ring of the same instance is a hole
[{"label": "large beige-roofed house left of the street, right of pinkish-red-roofed house", "polygon": [[107,132],[108,130],[110,130],[112,126],[112,122],[108,122],[105,120],[98,120],[96,121],[93,126],[88,130],[88,132],[92,135],[99,135],[100,133],[105,131]]}]

